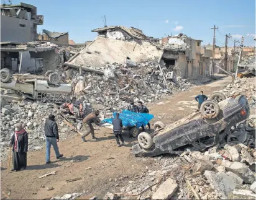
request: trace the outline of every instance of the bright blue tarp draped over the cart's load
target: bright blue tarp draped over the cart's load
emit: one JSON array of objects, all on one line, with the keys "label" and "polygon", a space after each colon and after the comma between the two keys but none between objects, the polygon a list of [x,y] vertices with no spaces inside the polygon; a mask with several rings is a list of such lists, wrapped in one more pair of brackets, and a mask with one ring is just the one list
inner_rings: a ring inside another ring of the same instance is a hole
[{"label": "bright blue tarp draped over the cart's load", "polygon": [[[149,123],[150,120],[153,119],[153,115],[147,114],[147,113],[134,113],[129,110],[122,110],[122,113],[120,113],[119,118],[122,120],[123,126],[132,127],[137,126],[137,128],[140,128],[140,126],[144,125],[146,126],[147,123]],[[109,123],[112,124],[112,120],[116,118],[116,113],[113,113],[112,118],[104,119],[103,123]]]}]

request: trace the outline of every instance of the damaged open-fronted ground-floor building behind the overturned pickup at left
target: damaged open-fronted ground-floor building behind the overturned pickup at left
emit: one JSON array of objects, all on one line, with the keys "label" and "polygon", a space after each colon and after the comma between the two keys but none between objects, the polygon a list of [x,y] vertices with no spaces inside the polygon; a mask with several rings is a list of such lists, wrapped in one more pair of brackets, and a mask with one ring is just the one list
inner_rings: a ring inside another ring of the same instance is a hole
[{"label": "damaged open-fronted ground-floor building behind the overturned pickup at left", "polygon": [[49,42],[1,42],[1,69],[25,73],[55,70],[63,63],[58,51],[58,46]]}]

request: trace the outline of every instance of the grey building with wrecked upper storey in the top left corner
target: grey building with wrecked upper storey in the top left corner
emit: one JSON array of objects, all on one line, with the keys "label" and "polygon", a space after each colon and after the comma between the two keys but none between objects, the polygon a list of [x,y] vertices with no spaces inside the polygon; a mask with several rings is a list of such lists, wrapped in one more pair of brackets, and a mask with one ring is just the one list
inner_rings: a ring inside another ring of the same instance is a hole
[{"label": "grey building with wrecked upper storey in the top left corner", "polygon": [[37,40],[37,25],[43,24],[43,15],[37,7],[21,2],[1,5],[1,41],[26,43]]}]

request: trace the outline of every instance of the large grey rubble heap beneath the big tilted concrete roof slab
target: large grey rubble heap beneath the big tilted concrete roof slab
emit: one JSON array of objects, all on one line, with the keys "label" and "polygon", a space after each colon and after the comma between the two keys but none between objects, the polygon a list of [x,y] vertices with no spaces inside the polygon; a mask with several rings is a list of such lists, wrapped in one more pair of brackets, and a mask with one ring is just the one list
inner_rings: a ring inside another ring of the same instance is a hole
[{"label": "large grey rubble heap beneath the big tilted concrete roof slab", "polygon": [[95,69],[104,71],[104,76],[86,72],[81,77],[78,71],[73,69],[70,71],[73,85],[77,87],[76,98],[83,98],[98,109],[124,109],[129,105],[130,100],[152,102],[199,84],[179,76],[174,76],[173,80],[167,80],[166,83],[163,73],[166,73],[167,69],[164,67],[162,73],[157,59],[141,61],[136,67],[124,67],[122,64],[112,63]]}]

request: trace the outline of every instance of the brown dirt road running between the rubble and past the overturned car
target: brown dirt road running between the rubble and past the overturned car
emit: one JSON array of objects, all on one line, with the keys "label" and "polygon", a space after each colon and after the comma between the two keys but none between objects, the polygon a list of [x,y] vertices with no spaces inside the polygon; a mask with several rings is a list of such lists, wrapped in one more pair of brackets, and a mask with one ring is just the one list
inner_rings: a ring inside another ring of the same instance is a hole
[{"label": "brown dirt road running between the rubble and past the overturned car", "polygon": [[[188,92],[175,93],[162,102],[149,105],[150,113],[155,121],[171,123],[191,113],[197,104],[194,96],[203,90],[206,95],[222,89],[231,82],[231,77],[216,80],[210,84],[196,86]],[[52,149],[50,165],[45,165],[45,149],[29,152],[27,170],[7,174],[7,162],[1,166],[1,197],[2,192],[11,189],[12,199],[43,199],[62,196],[66,193],[83,192],[103,198],[107,191],[118,191],[127,182],[127,176],[140,174],[146,166],[154,164],[153,159],[142,159],[137,162],[130,154],[135,139],[124,134],[126,146],[117,147],[110,129],[101,128],[96,131],[98,141],[82,142],[80,136],[74,134],[65,141],[60,141],[60,152],[65,155],[56,160]],[[89,139],[89,136],[88,136]],[[56,175],[45,178],[39,176],[56,171]],[[122,180],[120,180],[122,177]],[[66,183],[65,180],[81,178]],[[115,183],[115,179],[117,179]],[[47,188],[54,189],[48,191]]]}]

